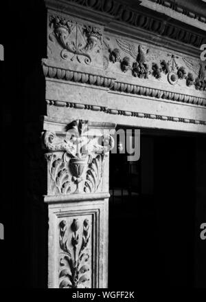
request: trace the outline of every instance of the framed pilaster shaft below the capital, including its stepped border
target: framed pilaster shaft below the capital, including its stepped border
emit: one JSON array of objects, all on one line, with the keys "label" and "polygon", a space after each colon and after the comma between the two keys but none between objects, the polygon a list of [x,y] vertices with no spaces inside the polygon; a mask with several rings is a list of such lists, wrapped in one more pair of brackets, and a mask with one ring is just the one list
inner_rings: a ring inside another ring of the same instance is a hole
[{"label": "framed pilaster shaft below the capital, including its stepped border", "polygon": [[104,210],[104,200],[49,206],[49,288],[105,287]]}]

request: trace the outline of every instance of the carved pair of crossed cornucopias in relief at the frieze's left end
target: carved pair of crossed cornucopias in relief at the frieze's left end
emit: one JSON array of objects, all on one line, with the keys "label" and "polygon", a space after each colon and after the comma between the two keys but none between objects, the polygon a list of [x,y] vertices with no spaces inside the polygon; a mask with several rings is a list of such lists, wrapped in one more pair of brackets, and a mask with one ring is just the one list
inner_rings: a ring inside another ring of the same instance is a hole
[{"label": "carved pair of crossed cornucopias in relief at the frieze's left end", "polygon": [[61,16],[50,16],[49,22],[53,29],[53,32],[49,34],[49,39],[54,42],[54,38],[56,38],[62,46],[62,58],[67,59],[71,53],[73,54],[71,61],[76,57],[81,63],[80,57],[84,56],[84,62],[90,64],[91,50],[97,47],[97,52],[100,52],[100,45],[102,44],[100,29],[91,25],[80,25]]}]

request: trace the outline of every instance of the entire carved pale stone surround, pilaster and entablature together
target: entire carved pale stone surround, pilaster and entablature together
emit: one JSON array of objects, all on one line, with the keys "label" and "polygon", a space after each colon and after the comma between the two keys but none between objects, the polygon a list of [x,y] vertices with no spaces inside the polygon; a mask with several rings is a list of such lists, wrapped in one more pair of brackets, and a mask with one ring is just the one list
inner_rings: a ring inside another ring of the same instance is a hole
[{"label": "entire carved pale stone surround, pilaster and entablature together", "polygon": [[[196,20],[198,30],[188,28],[191,11],[180,26],[181,6],[171,9],[167,2],[158,4],[156,18],[139,1],[138,11],[115,0],[45,1],[49,288],[107,286],[114,123],[206,133],[206,69],[199,58],[204,20]],[[161,15],[163,9],[174,19]],[[85,155],[80,144],[86,141]]]}]

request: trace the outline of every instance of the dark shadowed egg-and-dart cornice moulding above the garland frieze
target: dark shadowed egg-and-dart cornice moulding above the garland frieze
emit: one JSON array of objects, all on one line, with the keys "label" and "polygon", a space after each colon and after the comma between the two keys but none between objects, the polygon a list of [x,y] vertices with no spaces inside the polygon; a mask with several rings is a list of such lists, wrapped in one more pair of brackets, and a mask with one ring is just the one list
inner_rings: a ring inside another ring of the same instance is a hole
[{"label": "dark shadowed egg-and-dart cornice moulding above the garland frieze", "polygon": [[[55,6],[54,1],[47,0],[47,3],[50,2]],[[203,30],[199,30],[197,33],[194,28],[188,28],[188,25],[186,28],[181,21],[168,20],[168,17],[163,14],[159,14],[159,17],[154,17],[153,12],[149,12],[141,6],[138,7],[138,10],[133,10],[115,0],[67,0],[67,2],[104,13],[115,21],[127,23],[135,28],[146,30],[157,36],[167,37],[173,41],[192,45],[198,49],[206,41]]]}]

